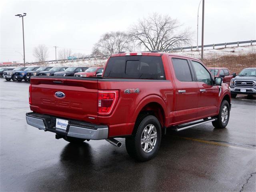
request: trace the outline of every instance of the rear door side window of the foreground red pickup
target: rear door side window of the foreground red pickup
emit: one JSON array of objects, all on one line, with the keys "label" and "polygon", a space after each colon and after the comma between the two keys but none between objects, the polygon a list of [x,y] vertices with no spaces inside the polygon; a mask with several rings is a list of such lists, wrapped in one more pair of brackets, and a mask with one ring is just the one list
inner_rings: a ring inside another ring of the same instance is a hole
[{"label": "rear door side window of the foreground red pickup", "polygon": [[175,76],[179,81],[192,81],[191,71],[186,59],[172,58]]}]

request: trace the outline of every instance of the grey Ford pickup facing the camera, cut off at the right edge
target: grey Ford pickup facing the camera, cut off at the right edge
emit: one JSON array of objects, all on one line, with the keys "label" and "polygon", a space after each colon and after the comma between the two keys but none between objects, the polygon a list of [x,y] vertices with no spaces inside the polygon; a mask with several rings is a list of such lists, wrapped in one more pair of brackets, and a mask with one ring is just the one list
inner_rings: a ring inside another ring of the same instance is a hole
[{"label": "grey Ford pickup facing the camera, cut off at the right edge", "polygon": [[230,81],[231,97],[256,94],[256,68],[245,68]]}]

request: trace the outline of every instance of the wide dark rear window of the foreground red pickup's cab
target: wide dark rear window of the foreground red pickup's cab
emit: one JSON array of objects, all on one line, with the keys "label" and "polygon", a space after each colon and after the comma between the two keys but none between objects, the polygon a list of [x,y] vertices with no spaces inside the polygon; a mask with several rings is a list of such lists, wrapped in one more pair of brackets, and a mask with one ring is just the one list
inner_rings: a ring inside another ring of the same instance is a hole
[{"label": "wide dark rear window of the foreground red pickup's cab", "polygon": [[159,56],[120,56],[108,60],[104,77],[165,80]]}]

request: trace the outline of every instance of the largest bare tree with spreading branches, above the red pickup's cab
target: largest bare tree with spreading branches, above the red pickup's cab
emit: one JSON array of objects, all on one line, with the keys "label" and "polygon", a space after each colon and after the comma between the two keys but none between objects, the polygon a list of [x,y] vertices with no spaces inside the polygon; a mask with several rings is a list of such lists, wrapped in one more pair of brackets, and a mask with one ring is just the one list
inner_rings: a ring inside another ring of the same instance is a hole
[{"label": "largest bare tree with spreading branches, above the red pickup's cab", "polygon": [[189,44],[192,33],[189,29],[181,31],[181,28],[178,20],[154,13],[131,26],[129,35],[141,48],[164,50]]}]

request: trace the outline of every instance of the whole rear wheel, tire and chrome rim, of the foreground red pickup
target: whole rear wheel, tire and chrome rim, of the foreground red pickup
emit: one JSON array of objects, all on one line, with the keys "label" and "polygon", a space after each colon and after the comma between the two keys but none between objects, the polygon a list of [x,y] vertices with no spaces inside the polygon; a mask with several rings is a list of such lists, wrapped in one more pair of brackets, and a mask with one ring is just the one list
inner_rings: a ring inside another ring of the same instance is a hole
[{"label": "whole rear wheel, tire and chrome rim, of the foreground red pickup", "polygon": [[135,124],[134,134],[126,138],[128,154],[139,161],[147,161],[156,156],[161,143],[161,124],[155,116],[142,116]]}]

